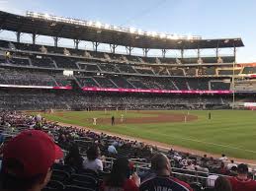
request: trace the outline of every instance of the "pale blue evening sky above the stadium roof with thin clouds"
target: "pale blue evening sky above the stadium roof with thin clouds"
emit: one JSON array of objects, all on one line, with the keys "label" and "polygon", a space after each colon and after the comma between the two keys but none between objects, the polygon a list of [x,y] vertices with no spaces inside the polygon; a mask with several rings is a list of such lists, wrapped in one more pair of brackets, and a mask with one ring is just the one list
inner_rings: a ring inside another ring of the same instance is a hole
[{"label": "pale blue evening sky above the stadium roof with thin clouds", "polygon": [[238,49],[237,62],[256,62],[256,0],[0,0],[0,10],[20,15],[34,11],[146,32],[241,37],[245,47]]}]

